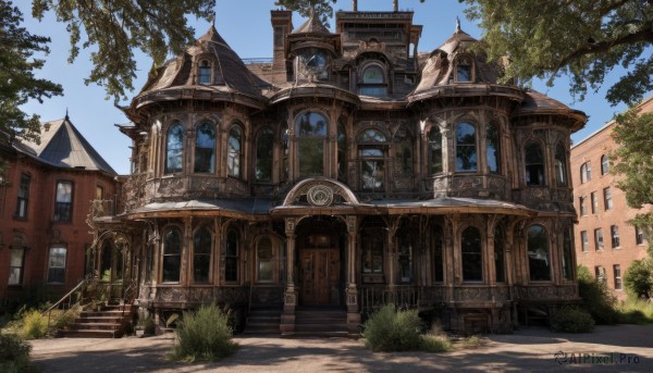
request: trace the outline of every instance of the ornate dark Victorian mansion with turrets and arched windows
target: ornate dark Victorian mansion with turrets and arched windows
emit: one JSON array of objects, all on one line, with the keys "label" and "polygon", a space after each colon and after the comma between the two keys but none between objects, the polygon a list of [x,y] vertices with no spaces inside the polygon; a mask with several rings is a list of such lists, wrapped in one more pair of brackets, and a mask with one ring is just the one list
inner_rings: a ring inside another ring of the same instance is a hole
[{"label": "ornate dark Victorian mansion with turrets and arched windows", "polygon": [[159,320],[218,302],[281,334],[324,310],[356,334],[387,302],[509,332],[576,302],[586,115],[497,83],[459,26],[418,53],[412,14],[354,8],[331,33],[272,11],[272,60],[245,63],[211,27],[153,72],[123,108],[133,173],[96,219],[97,271]]}]

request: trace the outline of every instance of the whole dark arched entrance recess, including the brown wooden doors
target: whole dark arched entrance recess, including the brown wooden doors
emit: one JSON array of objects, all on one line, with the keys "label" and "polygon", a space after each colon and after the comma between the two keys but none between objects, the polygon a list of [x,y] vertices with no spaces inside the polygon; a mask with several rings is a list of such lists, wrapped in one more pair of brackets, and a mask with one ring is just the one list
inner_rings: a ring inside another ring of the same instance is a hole
[{"label": "whole dark arched entrance recess, including the brown wooden doors", "polygon": [[335,217],[315,216],[297,231],[299,304],[343,304],[345,225]]}]

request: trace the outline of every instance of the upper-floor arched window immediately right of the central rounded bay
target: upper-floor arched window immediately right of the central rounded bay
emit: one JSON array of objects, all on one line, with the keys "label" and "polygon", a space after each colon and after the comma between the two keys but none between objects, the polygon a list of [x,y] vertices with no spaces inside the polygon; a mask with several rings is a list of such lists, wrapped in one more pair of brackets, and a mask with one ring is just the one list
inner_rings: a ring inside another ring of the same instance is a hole
[{"label": "upper-floor arched window immediately right of the central rounded bay", "polygon": [[369,128],[358,135],[360,178],[364,190],[382,191],[385,181],[385,135]]}]

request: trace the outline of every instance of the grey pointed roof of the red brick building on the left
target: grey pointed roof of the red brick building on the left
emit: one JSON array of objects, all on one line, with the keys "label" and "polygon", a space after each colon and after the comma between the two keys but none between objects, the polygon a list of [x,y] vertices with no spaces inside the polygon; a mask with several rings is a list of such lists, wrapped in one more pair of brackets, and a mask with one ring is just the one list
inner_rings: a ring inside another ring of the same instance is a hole
[{"label": "grey pointed roof of the red brick building on the left", "polygon": [[56,167],[84,169],[118,175],[82,136],[67,115],[41,125],[40,144],[24,141],[15,144],[14,148]]}]

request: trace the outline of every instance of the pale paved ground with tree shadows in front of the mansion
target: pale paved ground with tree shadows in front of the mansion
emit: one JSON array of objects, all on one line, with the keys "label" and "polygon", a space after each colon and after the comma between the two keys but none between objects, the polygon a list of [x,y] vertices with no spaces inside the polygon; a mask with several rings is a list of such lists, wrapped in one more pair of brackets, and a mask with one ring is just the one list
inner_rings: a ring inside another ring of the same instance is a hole
[{"label": "pale paved ground with tree shadows in front of the mansion", "polygon": [[[527,328],[489,336],[477,349],[453,352],[370,352],[344,338],[236,337],[238,351],[214,363],[167,360],[171,334],[148,338],[34,340],[41,372],[506,372],[575,369],[653,372],[653,325],[599,326],[591,334]],[[592,359],[593,358],[593,359]],[[593,363],[592,363],[593,360]],[[628,361],[630,360],[630,361]]]}]

